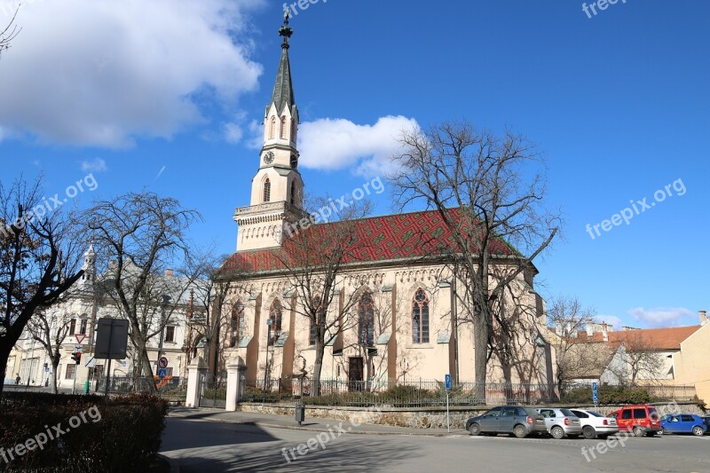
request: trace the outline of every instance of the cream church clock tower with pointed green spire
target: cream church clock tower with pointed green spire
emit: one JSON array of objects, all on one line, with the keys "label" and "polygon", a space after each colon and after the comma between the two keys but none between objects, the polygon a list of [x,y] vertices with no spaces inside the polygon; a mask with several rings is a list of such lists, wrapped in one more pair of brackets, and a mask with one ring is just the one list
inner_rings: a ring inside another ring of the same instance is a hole
[{"label": "cream church clock tower with pointed green spire", "polygon": [[279,247],[289,234],[285,225],[294,225],[304,216],[304,181],[298,172],[296,133],[298,109],[288,61],[288,12],[279,29],[283,37],[281,59],[271,102],[264,113],[264,146],[259,154],[259,170],[251,181],[251,205],[234,213],[239,225],[237,251]]}]

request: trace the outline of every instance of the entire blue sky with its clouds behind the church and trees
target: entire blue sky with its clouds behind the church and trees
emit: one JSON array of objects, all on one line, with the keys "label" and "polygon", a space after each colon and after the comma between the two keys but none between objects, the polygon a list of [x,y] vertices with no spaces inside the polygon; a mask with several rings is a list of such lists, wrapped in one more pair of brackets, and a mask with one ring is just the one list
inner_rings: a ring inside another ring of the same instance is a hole
[{"label": "entire blue sky with its clouds behind the church and trees", "polygon": [[[0,22],[14,4],[0,0]],[[0,57],[0,180],[43,172],[49,196],[93,172],[99,186],[81,205],[147,187],[200,210],[194,240],[233,251],[282,4],[25,2]],[[543,296],[579,296],[622,325],[698,323],[710,306],[710,4],[619,0],[592,18],[577,1],[319,0],[296,11],[308,193],[339,196],[375,177],[406,125],[509,126],[545,154],[548,205],[564,214],[564,238],[537,263]],[[375,197],[375,213],[390,213],[388,194]],[[602,229],[644,198],[650,208],[629,225]],[[588,224],[600,225],[594,239]]]}]

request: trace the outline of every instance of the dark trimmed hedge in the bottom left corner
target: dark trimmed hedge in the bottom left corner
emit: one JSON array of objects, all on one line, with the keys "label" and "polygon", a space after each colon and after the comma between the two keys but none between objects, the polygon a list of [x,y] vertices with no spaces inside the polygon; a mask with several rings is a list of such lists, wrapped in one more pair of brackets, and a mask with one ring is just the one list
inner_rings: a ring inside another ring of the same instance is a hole
[{"label": "dark trimmed hedge in the bottom left corner", "polygon": [[5,392],[0,400],[0,470],[145,470],[160,448],[167,409],[165,400],[149,395]]}]

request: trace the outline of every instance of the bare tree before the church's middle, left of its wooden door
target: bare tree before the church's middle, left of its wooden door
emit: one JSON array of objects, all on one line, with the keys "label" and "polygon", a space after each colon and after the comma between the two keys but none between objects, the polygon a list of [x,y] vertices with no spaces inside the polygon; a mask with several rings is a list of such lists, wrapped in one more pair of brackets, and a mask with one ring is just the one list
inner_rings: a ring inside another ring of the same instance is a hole
[{"label": "bare tree before the church's middle, left of its wooden door", "polygon": [[[327,198],[312,199],[307,208],[330,207]],[[357,259],[358,250],[365,241],[357,239],[356,220],[367,216],[371,209],[368,201],[355,201],[349,207],[340,209],[336,220],[326,225],[302,225],[289,236],[275,256],[284,266],[289,283],[295,289],[291,310],[308,319],[311,338],[315,343],[312,395],[320,395],[320,374],[323,368],[323,353],[326,348],[326,334],[343,331],[346,318],[359,294],[362,280],[355,278],[356,286],[345,291],[343,272],[348,263]],[[315,213],[312,215],[316,215]],[[313,218],[315,220],[315,218]],[[341,288],[341,291],[338,289]],[[340,296],[335,311],[335,298]],[[337,314],[329,317],[328,314]],[[366,327],[374,330],[374,327]]]}]

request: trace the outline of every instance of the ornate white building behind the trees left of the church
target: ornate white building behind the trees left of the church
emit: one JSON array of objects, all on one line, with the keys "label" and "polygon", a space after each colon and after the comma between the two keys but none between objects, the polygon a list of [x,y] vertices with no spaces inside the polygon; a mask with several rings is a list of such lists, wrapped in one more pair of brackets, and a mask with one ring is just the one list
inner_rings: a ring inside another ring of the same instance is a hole
[{"label": "ornate white building behind the trees left of the church", "polygon": [[[50,333],[53,337],[59,327],[67,325],[67,335],[60,343],[61,359],[58,367],[58,384],[60,388],[71,388],[76,379],[77,390],[83,390],[84,382],[91,382],[91,390],[96,388],[96,381],[106,375],[106,359],[96,359],[91,362],[95,343],[96,321],[101,318],[121,318],[121,311],[117,310],[114,300],[99,294],[99,284],[96,282],[96,253],[93,247],[84,254],[83,278],[70,288],[58,304],[51,307]],[[183,344],[185,342],[185,312],[187,311],[189,291],[185,290],[185,280],[177,278],[168,270],[160,277],[164,286],[168,288],[177,301],[177,308],[170,315],[170,320],[162,330],[161,335],[155,335],[149,342],[148,358],[153,364],[156,374],[158,353],[169,360],[168,375],[182,376],[185,373],[185,357]],[[160,314],[161,308],[155,307],[154,311]],[[158,315],[160,317],[161,315]],[[156,326],[157,327],[157,326]],[[156,328],[157,329],[157,328]],[[42,385],[51,379],[51,359],[43,345],[37,342],[29,333],[28,327],[22,335],[24,339],[20,347],[20,378],[23,383]],[[81,341],[81,342],[80,342]],[[53,343],[53,339],[52,339]],[[75,345],[82,345],[81,363],[77,365],[72,359]],[[128,342],[128,356],[126,359],[112,361],[112,376],[125,376],[132,374],[133,348]],[[91,363],[90,363],[91,362]],[[87,366],[88,365],[88,366]]]}]

